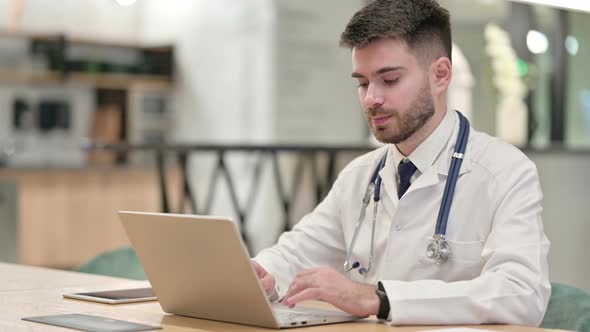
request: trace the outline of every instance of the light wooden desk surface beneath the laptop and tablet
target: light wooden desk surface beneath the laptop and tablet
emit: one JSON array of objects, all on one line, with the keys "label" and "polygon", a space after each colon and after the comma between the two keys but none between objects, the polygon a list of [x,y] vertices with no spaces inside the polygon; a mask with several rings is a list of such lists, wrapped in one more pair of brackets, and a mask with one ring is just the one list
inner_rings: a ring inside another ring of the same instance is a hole
[{"label": "light wooden desk surface beneath the laptop and tablet", "polygon": [[[110,278],[76,272],[0,263],[0,331],[72,331],[21,320],[23,317],[82,313],[161,325],[163,331],[272,331],[244,325],[228,324],[166,314],[157,302],[105,305],[66,300],[62,294],[78,291],[148,287],[147,281]],[[437,327],[390,327],[366,319],[354,323],[305,327],[289,331],[422,331]],[[492,331],[549,331],[531,327],[490,325],[474,328]]]}]

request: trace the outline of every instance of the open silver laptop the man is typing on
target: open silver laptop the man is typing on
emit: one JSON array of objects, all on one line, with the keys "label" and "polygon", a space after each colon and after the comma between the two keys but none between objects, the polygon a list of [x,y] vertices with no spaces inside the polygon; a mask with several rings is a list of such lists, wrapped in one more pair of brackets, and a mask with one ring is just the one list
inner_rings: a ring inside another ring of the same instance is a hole
[{"label": "open silver laptop the man is typing on", "polygon": [[119,217],[165,312],[270,328],[358,319],[337,310],[271,304],[228,218],[142,212]]}]

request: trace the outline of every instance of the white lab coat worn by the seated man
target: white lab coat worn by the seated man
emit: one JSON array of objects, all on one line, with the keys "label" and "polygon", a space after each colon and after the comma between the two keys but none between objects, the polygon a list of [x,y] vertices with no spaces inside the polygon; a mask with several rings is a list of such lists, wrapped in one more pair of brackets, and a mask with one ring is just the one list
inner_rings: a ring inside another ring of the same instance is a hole
[{"label": "white lab coat worn by the seated man", "polygon": [[[471,130],[447,226],[452,255],[442,265],[426,257],[458,134],[458,118],[454,122],[443,152],[401,200],[393,158],[387,159],[380,172],[373,266],[366,277],[358,270],[346,275],[361,283],[383,283],[394,325],[538,326],[551,293],[549,241],[536,167],[518,149]],[[362,196],[387,149],[352,161],[312,213],[256,256],[276,278],[279,295],[302,269],[332,266],[343,271]],[[372,212],[371,203],[351,258],[362,266],[369,257]]]}]

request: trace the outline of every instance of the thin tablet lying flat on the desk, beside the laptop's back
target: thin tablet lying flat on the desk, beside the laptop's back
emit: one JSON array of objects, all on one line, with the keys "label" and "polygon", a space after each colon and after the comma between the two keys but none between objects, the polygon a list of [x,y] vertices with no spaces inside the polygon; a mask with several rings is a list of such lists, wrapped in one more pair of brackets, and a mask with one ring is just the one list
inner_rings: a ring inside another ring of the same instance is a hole
[{"label": "thin tablet lying flat on the desk, beside the laptop's back", "polygon": [[93,301],[107,304],[156,301],[156,294],[151,288],[118,289],[100,292],[64,294],[65,298]]}]

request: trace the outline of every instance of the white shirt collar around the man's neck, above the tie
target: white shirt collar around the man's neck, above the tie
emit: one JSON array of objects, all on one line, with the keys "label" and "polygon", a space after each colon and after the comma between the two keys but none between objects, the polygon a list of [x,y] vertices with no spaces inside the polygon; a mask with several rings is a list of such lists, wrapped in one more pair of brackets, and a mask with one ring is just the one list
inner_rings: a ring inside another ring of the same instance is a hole
[{"label": "white shirt collar around the man's neck, above the tie", "polygon": [[447,114],[424,142],[408,156],[404,155],[397,149],[396,145],[393,145],[392,158],[397,172],[397,166],[404,159],[408,158],[418,168],[421,174],[423,174],[428,168],[434,165],[434,162],[442,152],[443,148],[447,145],[451,134],[453,133],[453,127],[457,121],[454,111],[447,111]]}]

